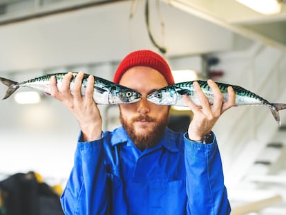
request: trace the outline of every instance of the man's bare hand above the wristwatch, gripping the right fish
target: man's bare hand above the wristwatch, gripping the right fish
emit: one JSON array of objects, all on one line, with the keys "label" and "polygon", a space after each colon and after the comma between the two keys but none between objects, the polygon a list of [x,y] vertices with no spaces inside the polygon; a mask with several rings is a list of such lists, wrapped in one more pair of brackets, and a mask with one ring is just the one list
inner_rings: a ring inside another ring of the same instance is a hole
[{"label": "man's bare hand above the wristwatch, gripping the right fish", "polygon": [[193,82],[193,88],[196,91],[196,96],[201,106],[197,106],[187,95],[184,95],[184,101],[191,111],[193,111],[193,119],[188,129],[189,138],[191,140],[202,140],[204,135],[211,132],[211,129],[213,129],[220,115],[235,104],[236,95],[231,86],[227,88],[228,100],[224,102],[222,93],[216,83],[212,80],[208,80],[207,83],[213,93],[213,104],[209,104],[198,82]]}]

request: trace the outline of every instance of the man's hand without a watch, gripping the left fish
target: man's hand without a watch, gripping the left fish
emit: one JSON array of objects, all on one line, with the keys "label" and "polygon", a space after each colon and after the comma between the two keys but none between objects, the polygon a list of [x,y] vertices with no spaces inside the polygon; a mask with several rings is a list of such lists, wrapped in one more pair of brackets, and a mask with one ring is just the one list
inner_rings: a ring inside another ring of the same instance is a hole
[{"label": "man's hand without a watch, gripping the left fish", "polygon": [[57,88],[55,77],[51,77],[51,95],[62,102],[75,115],[79,127],[82,129],[84,141],[98,140],[102,134],[102,117],[93,100],[94,77],[93,75],[88,77],[85,95],[82,95],[81,92],[84,73],[78,73],[72,88],[70,88],[72,77],[72,73],[65,75],[60,88]]}]

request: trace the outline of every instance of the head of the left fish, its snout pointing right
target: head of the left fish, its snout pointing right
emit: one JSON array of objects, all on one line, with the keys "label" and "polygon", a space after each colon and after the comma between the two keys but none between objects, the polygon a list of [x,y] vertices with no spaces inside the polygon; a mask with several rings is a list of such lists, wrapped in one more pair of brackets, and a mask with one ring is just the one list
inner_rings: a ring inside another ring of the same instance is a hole
[{"label": "head of the left fish, its snout pointing right", "polygon": [[137,91],[132,90],[131,88],[120,88],[117,91],[113,91],[111,95],[113,102],[111,104],[131,104],[135,102],[139,102],[142,100],[142,94]]}]

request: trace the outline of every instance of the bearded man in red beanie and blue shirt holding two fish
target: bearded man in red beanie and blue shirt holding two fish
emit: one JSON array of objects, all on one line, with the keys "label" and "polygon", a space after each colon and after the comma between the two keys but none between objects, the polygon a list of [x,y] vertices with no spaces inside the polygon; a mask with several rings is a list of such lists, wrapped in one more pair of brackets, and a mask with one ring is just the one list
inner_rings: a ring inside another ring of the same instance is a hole
[{"label": "bearded man in red beanie and blue shirt holding two fish", "polygon": [[70,90],[71,74],[60,89],[50,82],[53,97],[79,122],[81,133],[75,165],[61,204],[66,214],[229,214],[222,164],[211,132],[220,115],[234,104],[233,89],[223,102],[211,80],[209,105],[197,82],[201,106],[184,97],[193,119],[184,135],[166,128],[170,106],[146,100],[156,89],[173,84],[166,61],[150,50],[127,55],[113,82],[142,93],[142,100],[120,105],[122,127],[102,132],[102,117],[93,101],[93,76],[81,95],[83,74]]}]

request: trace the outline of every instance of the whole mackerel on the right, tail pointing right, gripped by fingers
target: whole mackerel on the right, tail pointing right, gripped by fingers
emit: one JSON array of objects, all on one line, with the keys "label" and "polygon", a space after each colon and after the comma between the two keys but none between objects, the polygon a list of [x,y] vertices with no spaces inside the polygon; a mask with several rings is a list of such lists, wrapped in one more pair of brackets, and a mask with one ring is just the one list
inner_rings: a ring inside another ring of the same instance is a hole
[{"label": "whole mackerel on the right, tail pointing right, gripped by fingers", "polygon": [[[194,104],[200,106],[200,101],[198,97],[196,97],[196,93],[193,88],[193,82],[180,82],[177,84],[171,84],[169,86],[165,86],[160,88],[152,93],[147,95],[146,100],[149,102],[153,102],[154,104],[159,105],[174,105],[174,106],[187,106],[184,103],[182,95],[188,95]],[[202,88],[204,95],[206,95],[207,99],[209,100],[209,104],[213,104],[213,93],[211,92],[211,88],[207,84],[207,81],[197,80],[198,84]],[[256,93],[252,93],[241,86],[231,85],[216,82],[218,88],[223,95],[223,100],[227,100],[227,88],[231,86],[233,91],[236,94],[235,106],[242,106],[242,105],[265,105],[268,106],[272,115],[274,116],[276,122],[281,125],[280,122],[280,115],[278,111],[286,109],[286,104],[280,103],[270,103],[265,100],[263,97],[260,97]]]}]

